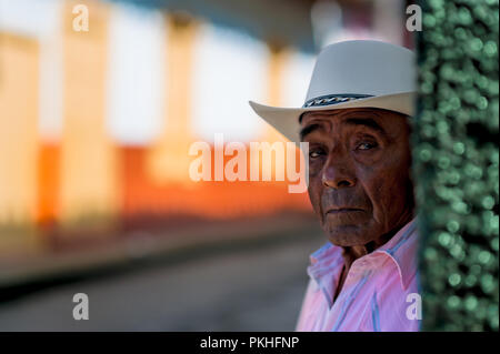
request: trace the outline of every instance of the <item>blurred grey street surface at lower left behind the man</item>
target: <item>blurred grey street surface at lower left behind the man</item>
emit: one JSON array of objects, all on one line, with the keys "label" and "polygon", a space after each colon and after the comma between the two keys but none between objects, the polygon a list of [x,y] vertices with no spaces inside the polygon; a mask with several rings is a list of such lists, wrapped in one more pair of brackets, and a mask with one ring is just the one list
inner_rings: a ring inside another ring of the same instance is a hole
[{"label": "blurred grey street surface at lower left behind the man", "polygon": [[[0,304],[0,331],[293,331],[322,235],[207,253],[43,289]],[[89,320],[72,317],[73,294]]]}]

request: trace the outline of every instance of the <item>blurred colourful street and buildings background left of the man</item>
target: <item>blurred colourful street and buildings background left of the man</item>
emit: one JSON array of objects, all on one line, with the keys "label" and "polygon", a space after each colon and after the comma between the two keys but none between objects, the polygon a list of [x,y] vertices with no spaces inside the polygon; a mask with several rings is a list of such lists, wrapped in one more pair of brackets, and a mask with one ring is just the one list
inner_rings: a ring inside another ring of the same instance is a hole
[{"label": "blurred colourful street and buildings background left of the man", "polygon": [[0,0],[0,330],[293,330],[326,242],[307,194],[192,182],[189,146],[283,141],[248,101],[302,105],[329,43],[413,48],[406,7]]}]

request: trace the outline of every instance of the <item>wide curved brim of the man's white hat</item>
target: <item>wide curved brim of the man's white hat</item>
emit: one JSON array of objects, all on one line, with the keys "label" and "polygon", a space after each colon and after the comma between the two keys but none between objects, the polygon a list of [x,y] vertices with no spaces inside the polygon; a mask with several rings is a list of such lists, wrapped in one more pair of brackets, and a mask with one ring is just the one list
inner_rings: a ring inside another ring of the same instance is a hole
[{"label": "wide curved brim of the man's white hat", "polygon": [[414,92],[402,92],[310,108],[279,108],[260,104],[253,101],[249,101],[249,104],[260,118],[271,124],[278,132],[290,141],[299,142],[299,117],[304,112],[341,110],[348,108],[378,108],[413,115],[414,98]]}]

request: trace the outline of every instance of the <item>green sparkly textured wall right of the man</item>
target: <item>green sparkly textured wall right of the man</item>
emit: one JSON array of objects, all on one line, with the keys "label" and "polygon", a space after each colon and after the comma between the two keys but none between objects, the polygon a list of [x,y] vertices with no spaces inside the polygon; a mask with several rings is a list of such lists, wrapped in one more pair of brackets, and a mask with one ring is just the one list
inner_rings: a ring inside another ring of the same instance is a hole
[{"label": "green sparkly textured wall right of the man", "polygon": [[413,171],[422,328],[498,331],[498,0],[420,6]]}]

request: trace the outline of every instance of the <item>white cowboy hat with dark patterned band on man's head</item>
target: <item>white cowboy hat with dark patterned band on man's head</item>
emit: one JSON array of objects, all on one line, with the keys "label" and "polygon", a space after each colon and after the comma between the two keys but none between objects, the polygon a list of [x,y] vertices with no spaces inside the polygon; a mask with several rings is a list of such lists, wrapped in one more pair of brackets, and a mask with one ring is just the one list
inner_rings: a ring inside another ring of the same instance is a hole
[{"label": "white cowboy hat with dark patterned band on man's head", "polygon": [[413,115],[414,53],[403,47],[369,40],[326,47],[318,55],[302,108],[278,108],[250,101],[263,120],[291,141],[299,141],[304,112],[379,108]]}]

